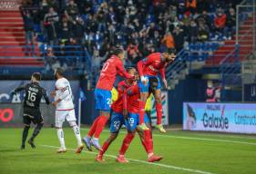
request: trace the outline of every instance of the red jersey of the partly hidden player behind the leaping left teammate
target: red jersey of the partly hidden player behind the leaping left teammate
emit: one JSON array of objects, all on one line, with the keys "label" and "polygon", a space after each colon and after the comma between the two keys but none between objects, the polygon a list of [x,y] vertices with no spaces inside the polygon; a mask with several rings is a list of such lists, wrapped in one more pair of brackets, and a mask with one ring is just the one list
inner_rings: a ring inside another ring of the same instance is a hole
[{"label": "red jersey of the partly hidden player behind the leaping left teammate", "polygon": [[113,111],[117,113],[123,112],[123,94],[129,87],[130,86],[125,81],[118,83],[118,100],[111,104],[111,108]]}]

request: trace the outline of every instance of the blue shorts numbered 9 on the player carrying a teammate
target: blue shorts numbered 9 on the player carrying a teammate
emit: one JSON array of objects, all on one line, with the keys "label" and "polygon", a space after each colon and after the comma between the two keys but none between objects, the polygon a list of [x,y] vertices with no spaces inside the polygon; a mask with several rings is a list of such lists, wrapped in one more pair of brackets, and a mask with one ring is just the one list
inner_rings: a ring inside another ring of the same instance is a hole
[{"label": "blue shorts numbered 9 on the player carrying a teammate", "polygon": [[[144,115],[144,122],[145,124],[149,122],[148,116],[145,113]],[[136,130],[138,124],[139,124],[139,115],[138,113],[128,113],[128,120],[125,121],[126,127],[128,131],[134,131]]]}]

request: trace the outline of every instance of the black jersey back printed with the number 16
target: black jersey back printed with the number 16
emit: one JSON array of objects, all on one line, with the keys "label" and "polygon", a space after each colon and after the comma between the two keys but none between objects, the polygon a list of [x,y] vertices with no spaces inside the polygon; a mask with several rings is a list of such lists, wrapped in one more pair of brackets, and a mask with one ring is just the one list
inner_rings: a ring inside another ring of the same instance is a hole
[{"label": "black jersey back printed with the number 16", "polygon": [[42,88],[38,82],[31,82],[26,84],[26,96],[24,101],[25,109],[39,109],[40,102],[44,93],[46,93],[45,89]]}]

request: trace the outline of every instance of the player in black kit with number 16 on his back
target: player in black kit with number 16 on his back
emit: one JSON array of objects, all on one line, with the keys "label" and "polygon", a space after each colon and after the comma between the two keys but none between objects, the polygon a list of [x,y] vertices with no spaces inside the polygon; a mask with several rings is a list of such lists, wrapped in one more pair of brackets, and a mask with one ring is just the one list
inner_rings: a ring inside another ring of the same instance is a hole
[{"label": "player in black kit with number 16 on his back", "polygon": [[41,74],[33,73],[30,83],[17,87],[15,91],[12,92],[13,94],[21,91],[26,92],[26,96],[23,104],[23,108],[24,108],[23,122],[25,127],[22,135],[22,145],[21,145],[22,150],[25,149],[26,137],[27,137],[31,122],[36,124],[36,128],[31,138],[28,140],[28,143],[32,148],[36,148],[36,145],[34,144],[34,140],[36,138],[36,135],[38,135],[38,133],[40,132],[44,124],[44,119],[39,109],[40,101],[42,97],[44,97],[46,100],[46,104],[50,103],[46,95],[46,90],[39,85],[40,81],[41,81]]}]

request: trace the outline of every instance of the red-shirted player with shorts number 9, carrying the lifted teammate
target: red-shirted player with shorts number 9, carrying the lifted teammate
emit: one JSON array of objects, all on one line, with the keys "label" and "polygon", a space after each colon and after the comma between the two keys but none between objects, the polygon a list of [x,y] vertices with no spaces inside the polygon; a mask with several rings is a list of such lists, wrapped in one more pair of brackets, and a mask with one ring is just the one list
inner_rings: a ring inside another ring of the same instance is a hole
[{"label": "red-shirted player with shorts number 9, carrying the lifted teammate", "polygon": [[[149,80],[150,90],[154,91],[154,89],[158,86],[157,78],[151,78]],[[128,134],[123,140],[122,146],[119,150],[117,161],[120,163],[126,163],[128,160],[125,158],[125,153],[128,150],[130,142],[134,139],[136,131],[138,131],[140,140],[148,153],[148,162],[154,162],[162,160],[162,157],[154,155],[153,153],[153,140],[152,133],[150,130],[141,131],[137,129],[139,123],[139,99],[140,99],[140,89],[138,84],[134,84],[132,87],[128,89],[127,92],[124,93],[124,113],[128,111],[128,115],[125,123],[128,130]],[[148,128],[150,128],[148,116],[144,115],[144,122],[147,124]]]}]

